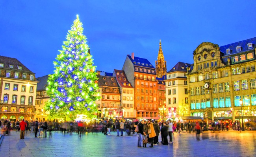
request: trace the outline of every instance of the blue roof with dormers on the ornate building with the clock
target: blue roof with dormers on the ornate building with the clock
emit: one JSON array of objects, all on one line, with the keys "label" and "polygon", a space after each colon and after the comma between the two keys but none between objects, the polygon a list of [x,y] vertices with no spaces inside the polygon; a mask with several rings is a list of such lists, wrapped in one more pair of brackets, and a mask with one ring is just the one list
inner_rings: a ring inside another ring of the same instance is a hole
[{"label": "blue roof with dormers on the ornate building with the clock", "polygon": [[[251,49],[248,49],[247,44],[249,44],[249,43],[252,43],[252,48]],[[226,49],[230,49],[230,54],[228,54],[228,55],[242,53],[242,52],[253,50],[254,48],[256,48],[255,43],[256,43],[256,37],[246,39],[246,40],[243,40],[243,41],[239,41],[239,42],[234,42],[232,44],[220,46],[219,49],[222,53],[224,53],[224,56],[227,56]],[[239,52],[236,51],[237,46],[241,46],[241,51],[239,51]]]}]

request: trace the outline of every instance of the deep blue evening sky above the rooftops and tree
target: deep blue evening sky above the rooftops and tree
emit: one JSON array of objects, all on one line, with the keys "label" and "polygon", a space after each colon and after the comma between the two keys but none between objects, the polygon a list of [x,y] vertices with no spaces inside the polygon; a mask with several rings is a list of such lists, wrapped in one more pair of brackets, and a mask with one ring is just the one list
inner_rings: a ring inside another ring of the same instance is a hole
[{"label": "deep blue evening sky above the rooftops and tree", "polygon": [[193,63],[202,42],[223,46],[256,37],[255,0],[2,0],[0,55],[17,58],[41,77],[53,61],[76,14],[97,70],[122,69],[127,54],[155,66],[159,39],[167,71]]}]

